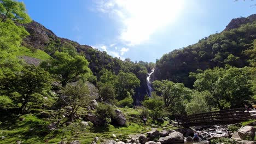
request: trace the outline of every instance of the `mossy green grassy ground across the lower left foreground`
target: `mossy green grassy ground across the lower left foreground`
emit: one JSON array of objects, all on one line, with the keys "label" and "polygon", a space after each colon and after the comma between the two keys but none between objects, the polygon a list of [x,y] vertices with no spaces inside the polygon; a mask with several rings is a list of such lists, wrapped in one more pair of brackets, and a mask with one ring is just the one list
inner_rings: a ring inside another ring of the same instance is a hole
[{"label": "mossy green grassy ground across the lower left foreground", "polygon": [[[139,113],[141,109],[118,108],[121,109],[128,119],[126,127],[117,127],[108,125],[108,127],[92,127],[90,130],[84,131],[79,135],[79,142],[91,143],[94,137],[101,139],[119,139],[124,140],[131,134],[144,134],[150,131],[148,121],[148,129],[144,129],[143,123],[140,121]],[[24,118],[24,120],[20,120]],[[49,122],[46,119],[39,119],[34,115],[14,116],[0,118],[0,137],[5,136],[4,140],[0,139],[0,143],[15,143],[20,140],[22,143],[57,143],[61,141],[61,133],[58,131],[50,131],[48,129]],[[164,127],[168,122],[165,122],[158,128]],[[115,134],[117,138],[112,137]],[[69,139],[69,135],[66,136]]]}]

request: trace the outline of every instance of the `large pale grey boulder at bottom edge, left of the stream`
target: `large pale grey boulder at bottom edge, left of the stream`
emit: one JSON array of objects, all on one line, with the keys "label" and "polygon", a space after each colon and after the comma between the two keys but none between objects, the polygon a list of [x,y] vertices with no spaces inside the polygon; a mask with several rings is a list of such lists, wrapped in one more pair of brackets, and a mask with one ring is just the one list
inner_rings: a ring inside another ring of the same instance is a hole
[{"label": "large pale grey boulder at bottom edge, left of the stream", "polygon": [[179,133],[178,131],[176,131],[166,137],[161,137],[158,141],[161,142],[162,144],[183,143],[184,136],[182,133]]}]

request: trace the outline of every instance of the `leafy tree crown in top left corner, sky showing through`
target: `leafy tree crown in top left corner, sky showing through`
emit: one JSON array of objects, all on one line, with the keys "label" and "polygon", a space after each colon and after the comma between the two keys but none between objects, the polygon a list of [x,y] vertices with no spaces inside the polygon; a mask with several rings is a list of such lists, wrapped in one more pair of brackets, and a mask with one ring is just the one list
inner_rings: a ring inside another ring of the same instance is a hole
[{"label": "leafy tree crown in top left corner, sky showing through", "polygon": [[30,16],[26,13],[25,4],[13,0],[0,1],[1,23],[7,19],[17,21],[19,23],[31,22]]}]

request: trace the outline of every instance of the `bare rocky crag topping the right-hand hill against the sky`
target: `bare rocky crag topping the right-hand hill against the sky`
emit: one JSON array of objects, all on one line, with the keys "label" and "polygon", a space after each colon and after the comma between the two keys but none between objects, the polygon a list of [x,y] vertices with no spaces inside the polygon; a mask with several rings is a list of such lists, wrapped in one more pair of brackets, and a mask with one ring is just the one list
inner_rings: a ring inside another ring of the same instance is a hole
[{"label": "bare rocky crag topping the right-hand hill against the sky", "polygon": [[241,25],[246,24],[248,22],[253,22],[254,20],[256,20],[256,14],[250,15],[248,17],[240,17],[240,18],[232,19],[229,22],[229,25],[226,26],[224,31],[229,31],[230,29],[238,28]]}]

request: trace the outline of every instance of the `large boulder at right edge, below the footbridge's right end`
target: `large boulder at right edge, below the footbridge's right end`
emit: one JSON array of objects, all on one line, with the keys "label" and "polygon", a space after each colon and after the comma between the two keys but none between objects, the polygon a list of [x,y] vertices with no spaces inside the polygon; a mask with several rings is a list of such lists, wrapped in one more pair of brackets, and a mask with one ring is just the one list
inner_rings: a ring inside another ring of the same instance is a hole
[{"label": "large boulder at right edge, below the footbridge's right end", "polygon": [[238,135],[241,137],[242,140],[253,140],[255,132],[256,128],[249,125],[238,129]]}]

